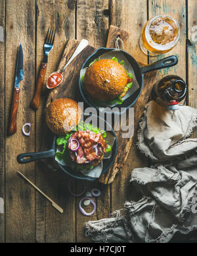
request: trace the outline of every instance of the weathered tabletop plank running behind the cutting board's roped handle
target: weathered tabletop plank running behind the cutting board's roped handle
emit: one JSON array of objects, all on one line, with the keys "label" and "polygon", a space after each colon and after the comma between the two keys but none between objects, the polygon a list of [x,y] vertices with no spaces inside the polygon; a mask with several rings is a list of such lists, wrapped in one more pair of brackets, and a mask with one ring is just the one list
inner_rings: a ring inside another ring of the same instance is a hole
[{"label": "weathered tabletop plank running behind the cutting board's roped handle", "polygon": [[[142,25],[147,20],[146,1],[129,1],[129,0],[111,0],[111,20],[112,25],[120,26],[130,33],[130,37],[125,43],[124,49],[135,56],[138,61],[147,63],[147,56],[139,49],[139,37],[141,35]],[[135,15],[131,14],[131,10],[135,10]],[[129,18],[128,18],[129,17]],[[144,95],[144,97],[147,97]],[[141,106],[142,105],[142,106]],[[142,115],[144,104],[135,106],[135,135],[137,131],[137,123],[139,115]],[[120,175],[116,177],[112,183],[112,212],[123,207],[123,203],[132,197],[129,179],[131,170],[136,167],[146,166],[147,160],[137,152],[136,137],[133,137],[131,150],[129,152],[127,162],[122,168]]]}]

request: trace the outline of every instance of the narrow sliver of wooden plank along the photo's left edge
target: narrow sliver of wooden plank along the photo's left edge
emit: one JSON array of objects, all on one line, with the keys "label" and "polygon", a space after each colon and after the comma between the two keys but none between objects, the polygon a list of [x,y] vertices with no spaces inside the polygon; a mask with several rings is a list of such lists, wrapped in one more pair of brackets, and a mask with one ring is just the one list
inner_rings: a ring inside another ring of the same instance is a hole
[{"label": "narrow sliver of wooden plank along the photo's left edge", "polygon": [[[5,1],[0,1],[0,26],[5,29]],[[2,33],[2,31],[1,31]],[[1,34],[2,36],[2,34]],[[4,37],[2,38],[4,40]],[[0,42],[0,243],[5,242],[5,42]]]}]

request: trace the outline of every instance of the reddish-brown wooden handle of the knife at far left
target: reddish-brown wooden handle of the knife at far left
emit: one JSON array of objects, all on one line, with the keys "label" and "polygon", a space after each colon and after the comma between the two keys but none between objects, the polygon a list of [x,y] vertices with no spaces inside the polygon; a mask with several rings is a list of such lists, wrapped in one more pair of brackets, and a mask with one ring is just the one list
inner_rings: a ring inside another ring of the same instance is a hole
[{"label": "reddish-brown wooden handle of the knife at far left", "polygon": [[13,135],[16,133],[16,116],[18,112],[18,104],[19,104],[19,94],[20,94],[20,88],[14,88],[14,95],[12,100],[12,110],[11,110],[11,119],[9,123],[9,135]]}]

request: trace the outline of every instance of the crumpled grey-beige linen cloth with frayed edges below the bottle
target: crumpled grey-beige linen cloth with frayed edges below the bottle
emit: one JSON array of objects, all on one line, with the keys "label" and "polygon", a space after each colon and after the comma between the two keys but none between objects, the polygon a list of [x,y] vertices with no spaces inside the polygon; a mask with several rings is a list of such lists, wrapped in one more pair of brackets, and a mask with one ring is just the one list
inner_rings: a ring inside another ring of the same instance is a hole
[{"label": "crumpled grey-beige linen cloth with frayed edges below the bottle", "polygon": [[177,232],[197,230],[197,139],[188,138],[196,117],[188,106],[146,106],[138,146],[156,163],[134,169],[130,180],[142,198],[125,202],[124,216],[117,210],[112,218],[87,222],[86,236],[95,242],[167,243]]}]

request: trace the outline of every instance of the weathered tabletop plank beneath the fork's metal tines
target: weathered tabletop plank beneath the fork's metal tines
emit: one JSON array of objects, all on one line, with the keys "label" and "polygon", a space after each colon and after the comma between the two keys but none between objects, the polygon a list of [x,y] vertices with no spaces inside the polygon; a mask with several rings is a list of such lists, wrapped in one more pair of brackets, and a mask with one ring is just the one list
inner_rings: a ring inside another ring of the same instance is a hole
[{"label": "weathered tabletop plank beneath the fork's metal tines", "polygon": [[[64,52],[66,41],[75,37],[76,1],[37,0],[37,74],[43,59],[43,44],[49,26],[56,28],[53,51],[49,54],[47,77],[56,71],[60,57]],[[45,82],[46,84],[46,82]],[[45,86],[44,86],[45,87]],[[33,95],[32,95],[33,96]],[[36,112],[36,150],[40,150],[43,137],[44,107],[46,89],[39,110]],[[67,176],[66,176],[67,177]],[[37,242],[73,242],[75,240],[75,201],[70,201],[64,187],[67,186],[65,176],[46,170],[43,164],[36,164],[36,184],[58,203],[66,214],[63,216],[51,207],[41,195],[36,193],[36,241]],[[68,199],[68,200],[67,200]]]}]

